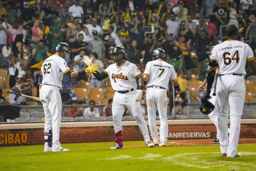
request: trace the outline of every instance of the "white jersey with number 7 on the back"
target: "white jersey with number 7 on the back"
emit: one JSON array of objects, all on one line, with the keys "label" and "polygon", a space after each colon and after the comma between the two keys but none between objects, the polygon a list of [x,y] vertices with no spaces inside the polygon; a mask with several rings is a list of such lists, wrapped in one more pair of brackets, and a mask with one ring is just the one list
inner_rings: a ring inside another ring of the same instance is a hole
[{"label": "white jersey with number 7 on the back", "polygon": [[160,86],[167,90],[169,78],[172,81],[177,80],[173,66],[161,59],[148,62],[143,75],[148,75],[147,87]]}]

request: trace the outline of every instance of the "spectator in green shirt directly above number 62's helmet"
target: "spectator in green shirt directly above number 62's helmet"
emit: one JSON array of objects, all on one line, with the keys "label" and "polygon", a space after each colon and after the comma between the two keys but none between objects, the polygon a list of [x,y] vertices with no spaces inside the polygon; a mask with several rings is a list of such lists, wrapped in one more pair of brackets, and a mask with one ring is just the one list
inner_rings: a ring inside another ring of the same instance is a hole
[{"label": "spectator in green shirt directly above number 62's helmet", "polygon": [[52,29],[52,52],[55,52],[57,44],[63,42],[66,31],[61,29],[62,21],[56,20],[54,21],[53,25],[54,27]]}]

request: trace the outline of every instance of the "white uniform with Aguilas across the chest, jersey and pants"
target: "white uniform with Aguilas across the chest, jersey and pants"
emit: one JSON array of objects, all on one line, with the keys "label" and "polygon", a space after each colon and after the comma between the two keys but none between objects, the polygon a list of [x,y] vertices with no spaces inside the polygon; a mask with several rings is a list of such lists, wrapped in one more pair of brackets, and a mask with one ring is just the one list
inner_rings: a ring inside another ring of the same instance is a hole
[{"label": "white uniform with Aguilas across the chest, jersey and pants", "polygon": [[127,107],[137,121],[145,142],[150,141],[148,126],[143,117],[140,102],[135,102],[137,94],[135,78],[141,75],[140,70],[135,64],[125,61],[119,68],[116,64],[108,66],[104,72],[110,77],[111,86],[115,91],[127,91],[127,93],[116,92],[113,98],[112,114],[115,133],[120,130],[123,132],[122,116]]}]

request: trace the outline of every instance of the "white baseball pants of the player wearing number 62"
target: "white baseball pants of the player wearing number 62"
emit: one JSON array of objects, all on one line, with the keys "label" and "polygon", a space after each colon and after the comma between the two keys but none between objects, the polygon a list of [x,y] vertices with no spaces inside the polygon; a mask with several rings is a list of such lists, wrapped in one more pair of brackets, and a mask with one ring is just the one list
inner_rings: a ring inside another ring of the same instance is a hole
[{"label": "white baseball pants of the player wearing number 62", "polygon": [[[59,141],[62,107],[60,89],[56,86],[42,85],[39,90],[39,97],[45,114],[44,133],[49,133],[52,128],[52,151],[59,151],[62,149]],[[47,138],[48,136],[44,136],[44,139]],[[47,146],[47,143],[44,146]]]}]

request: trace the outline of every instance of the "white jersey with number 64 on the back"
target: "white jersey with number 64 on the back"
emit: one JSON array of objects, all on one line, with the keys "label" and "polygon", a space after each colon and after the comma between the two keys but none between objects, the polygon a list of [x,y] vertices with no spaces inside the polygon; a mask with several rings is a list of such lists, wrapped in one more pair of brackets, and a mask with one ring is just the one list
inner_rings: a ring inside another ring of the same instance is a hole
[{"label": "white jersey with number 64 on the back", "polygon": [[238,40],[226,40],[212,49],[210,59],[218,62],[220,74],[245,75],[246,61],[254,59],[250,46]]}]

